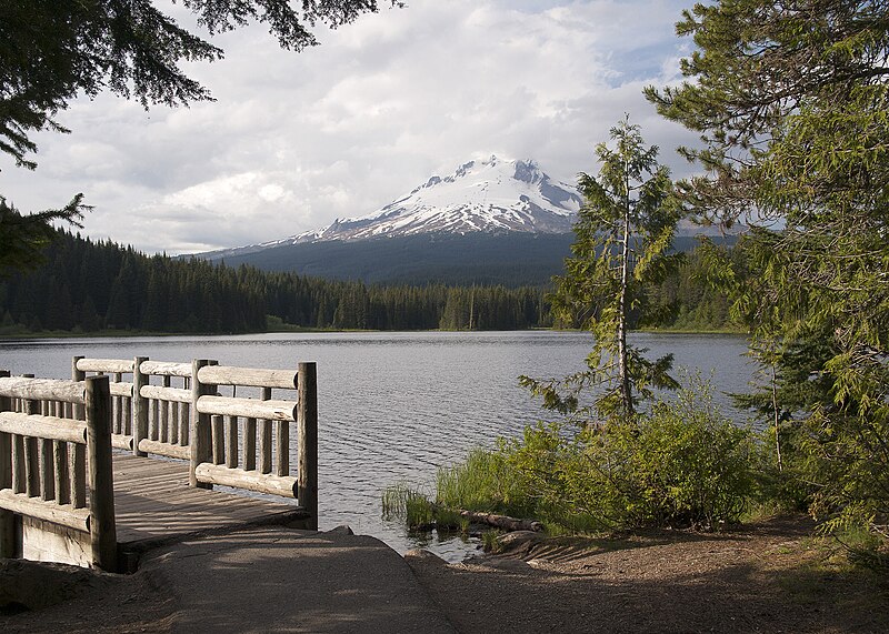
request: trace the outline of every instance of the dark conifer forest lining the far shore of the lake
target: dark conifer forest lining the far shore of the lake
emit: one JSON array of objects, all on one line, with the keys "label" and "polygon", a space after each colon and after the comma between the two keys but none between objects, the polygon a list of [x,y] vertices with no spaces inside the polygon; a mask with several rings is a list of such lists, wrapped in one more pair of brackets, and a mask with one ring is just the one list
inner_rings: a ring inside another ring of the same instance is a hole
[{"label": "dark conifer forest lining the far shore of the lake", "polygon": [[[337,330],[523,330],[551,326],[547,288],[368,285],[204,260],[144,255],[68,232],[29,273],[0,280],[0,334],[143,331],[248,333],[296,326]],[[728,300],[701,281],[688,253],[657,289],[671,303],[662,328],[730,326]],[[571,324],[558,324],[571,325]]]}]

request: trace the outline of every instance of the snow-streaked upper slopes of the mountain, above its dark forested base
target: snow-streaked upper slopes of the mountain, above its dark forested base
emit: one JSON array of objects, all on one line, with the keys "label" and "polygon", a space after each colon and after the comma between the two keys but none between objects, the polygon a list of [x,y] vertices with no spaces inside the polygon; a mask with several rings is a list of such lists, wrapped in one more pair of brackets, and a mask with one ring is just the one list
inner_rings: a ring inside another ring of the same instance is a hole
[{"label": "snow-streaked upper slopes of the mountain, above its dark forested base", "polygon": [[567,233],[580,204],[577,188],[553,181],[533,161],[491,157],[434,175],[373,213],[260,246],[434,232]]}]

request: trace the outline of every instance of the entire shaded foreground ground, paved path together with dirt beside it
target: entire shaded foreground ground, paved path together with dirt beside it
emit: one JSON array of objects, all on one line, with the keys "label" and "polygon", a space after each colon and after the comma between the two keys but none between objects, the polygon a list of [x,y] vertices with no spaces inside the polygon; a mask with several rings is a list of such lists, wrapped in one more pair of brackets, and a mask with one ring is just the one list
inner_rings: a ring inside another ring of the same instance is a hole
[{"label": "entire shaded foreground ground, paved path together with dirt beside it", "polygon": [[[889,580],[826,558],[811,529],[513,534],[506,554],[409,555],[410,568],[371,537],[256,531],[158,551],[130,576],[0,560],[0,631],[190,632],[197,618],[214,632],[889,632]],[[274,593],[269,618],[253,606]],[[16,613],[16,596],[33,610]]]}]

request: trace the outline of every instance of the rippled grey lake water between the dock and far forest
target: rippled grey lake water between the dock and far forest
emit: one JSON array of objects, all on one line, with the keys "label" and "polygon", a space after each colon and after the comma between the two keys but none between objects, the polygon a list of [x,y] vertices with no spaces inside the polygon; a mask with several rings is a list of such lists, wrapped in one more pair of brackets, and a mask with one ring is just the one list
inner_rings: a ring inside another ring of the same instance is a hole
[{"label": "rippled grey lake water between the dock and far forest", "polygon": [[[755,368],[732,335],[639,333],[650,356],[700,370],[720,392],[743,391]],[[406,482],[430,487],[436,469],[476,445],[491,446],[546,417],[518,385],[520,374],[562,376],[583,369],[592,340],[576,332],[322,333],[240,336],[22,340],[0,342],[0,369],[70,378],[71,358],[216,359],[223,365],[293,368],[318,362],[320,529],[349,524],[399,552],[418,545],[380,517],[380,492]],[[727,414],[728,397],[717,394]],[[420,542],[446,558],[475,544],[434,534]]]}]

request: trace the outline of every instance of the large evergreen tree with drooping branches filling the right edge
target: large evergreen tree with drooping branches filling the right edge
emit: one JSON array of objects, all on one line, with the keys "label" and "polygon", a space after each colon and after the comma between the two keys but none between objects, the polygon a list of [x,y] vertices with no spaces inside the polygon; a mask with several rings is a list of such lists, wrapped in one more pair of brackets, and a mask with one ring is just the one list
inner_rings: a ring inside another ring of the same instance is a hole
[{"label": "large evergreen tree with drooping branches filling the right edge", "polygon": [[705,141],[689,205],[755,225],[751,274],[725,278],[777,370],[773,413],[798,421],[812,511],[889,539],[889,7],[721,0],[677,30],[690,81],[647,93]]}]

